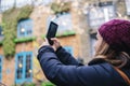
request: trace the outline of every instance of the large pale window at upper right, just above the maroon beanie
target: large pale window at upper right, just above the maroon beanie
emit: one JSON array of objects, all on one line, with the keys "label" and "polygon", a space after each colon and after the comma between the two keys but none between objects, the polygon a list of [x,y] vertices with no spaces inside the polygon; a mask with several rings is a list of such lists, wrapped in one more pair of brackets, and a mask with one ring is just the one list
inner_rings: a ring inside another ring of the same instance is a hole
[{"label": "large pale window at upper right, just above the maroon beanie", "polygon": [[115,8],[112,2],[100,3],[99,6],[93,6],[88,14],[89,26],[92,29],[96,29],[104,22],[114,18],[115,15]]}]

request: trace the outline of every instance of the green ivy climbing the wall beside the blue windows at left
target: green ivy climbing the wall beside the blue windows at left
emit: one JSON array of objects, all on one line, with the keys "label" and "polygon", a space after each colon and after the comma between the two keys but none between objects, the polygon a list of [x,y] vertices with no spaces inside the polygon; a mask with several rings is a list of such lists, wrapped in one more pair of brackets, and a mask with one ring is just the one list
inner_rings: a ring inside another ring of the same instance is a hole
[{"label": "green ivy climbing the wall beside the blue windows at left", "polygon": [[2,14],[2,28],[4,33],[3,52],[6,58],[11,58],[15,54],[14,39],[16,39],[16,28],[18,20],[28,18],[31,12],[32,6],[26,5],[21,9],[13,8]]}]

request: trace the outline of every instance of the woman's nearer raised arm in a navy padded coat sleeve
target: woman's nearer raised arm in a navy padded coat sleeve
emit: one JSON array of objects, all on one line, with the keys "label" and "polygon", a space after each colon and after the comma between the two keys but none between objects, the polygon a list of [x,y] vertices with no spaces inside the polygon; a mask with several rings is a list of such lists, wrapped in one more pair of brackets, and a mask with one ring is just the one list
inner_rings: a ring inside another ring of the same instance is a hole
[{"label": "woman's nearer raised arm in a navy padded coat sleeve", "polygon": [[50,46],[43,46],[42,51],[39,51],[38,60],[47,78],[57,86],[108,86],[102,78],[102,73],[109,78],[102,67],[65,66]]}]

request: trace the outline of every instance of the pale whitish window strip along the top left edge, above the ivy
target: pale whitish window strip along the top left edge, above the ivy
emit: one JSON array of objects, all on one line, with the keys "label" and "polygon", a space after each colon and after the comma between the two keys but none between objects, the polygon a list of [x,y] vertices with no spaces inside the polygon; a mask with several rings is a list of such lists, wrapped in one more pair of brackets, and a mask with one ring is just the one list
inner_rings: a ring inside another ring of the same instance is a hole
[{"label": "pale whitish window strip along the top left edge, above the ivy", "polygon": [[40,5],[40,4],[49,4],[53,2],[53,0],[0,0],[0,12],[4,12],[11,8],[22,8],[24,5]]}]

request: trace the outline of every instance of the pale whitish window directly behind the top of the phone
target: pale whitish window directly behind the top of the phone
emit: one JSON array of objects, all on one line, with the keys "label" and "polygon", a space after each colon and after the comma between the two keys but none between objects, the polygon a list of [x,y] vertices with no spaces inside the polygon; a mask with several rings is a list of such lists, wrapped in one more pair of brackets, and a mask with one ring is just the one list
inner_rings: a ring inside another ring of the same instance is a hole
[{"label": "pale whitish window directly behind the top of the phone", "polygon": [[53,20],[54,23],[60,25],[58,29],[57,29],[57,32],[64,32],[66,30],[73,30],[70,13],[57,14],[56,17],[50,16],[48,18],[48,27],[49,27],[49,24],[50,24],[51,20]]}]

